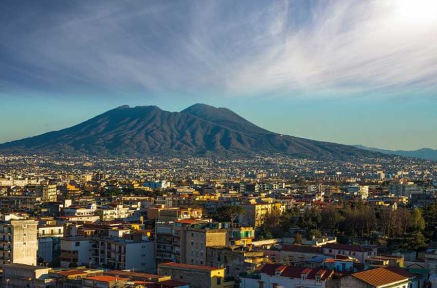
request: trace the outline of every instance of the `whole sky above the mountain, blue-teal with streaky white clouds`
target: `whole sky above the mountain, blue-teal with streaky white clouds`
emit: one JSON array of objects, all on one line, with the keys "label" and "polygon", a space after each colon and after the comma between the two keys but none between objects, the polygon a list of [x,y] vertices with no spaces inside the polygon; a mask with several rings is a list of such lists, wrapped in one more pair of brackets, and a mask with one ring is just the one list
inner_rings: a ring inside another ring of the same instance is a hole
[{"label": "whole sky above the mountain, blue-teal with streaky white clouds", "polygon": [[437,149],[437,1],[2,1],[0,142],[114,107]]}]

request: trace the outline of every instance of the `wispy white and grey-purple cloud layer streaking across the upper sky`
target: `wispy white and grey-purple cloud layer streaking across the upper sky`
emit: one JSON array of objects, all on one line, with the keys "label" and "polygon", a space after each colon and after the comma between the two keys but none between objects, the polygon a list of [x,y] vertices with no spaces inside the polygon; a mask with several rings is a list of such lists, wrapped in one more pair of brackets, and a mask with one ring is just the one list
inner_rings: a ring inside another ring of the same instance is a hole
[{"label": "wispy white and grey-purple cloud layer streaking across the upper sky", "polygon": [[0,12],[0,90],[435,91],[437,19],[421,15],[435,7],[407,2],[12,2]]}]

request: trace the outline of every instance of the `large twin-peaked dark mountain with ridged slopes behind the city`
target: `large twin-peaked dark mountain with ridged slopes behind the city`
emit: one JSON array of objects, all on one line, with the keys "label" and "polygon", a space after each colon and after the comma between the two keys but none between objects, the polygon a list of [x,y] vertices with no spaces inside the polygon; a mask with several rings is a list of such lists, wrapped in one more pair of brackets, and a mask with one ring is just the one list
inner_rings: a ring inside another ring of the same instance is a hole
[{"label": "large twin-peaked dark mountain with ridged slopes behind the city", "polygon": [[70,128],[3,143],[0,152],[131,157],[282,153],[336,159],[383,155],[273,133],[229,109],[205,104],[195,104],[181,112],[124,105]]}]

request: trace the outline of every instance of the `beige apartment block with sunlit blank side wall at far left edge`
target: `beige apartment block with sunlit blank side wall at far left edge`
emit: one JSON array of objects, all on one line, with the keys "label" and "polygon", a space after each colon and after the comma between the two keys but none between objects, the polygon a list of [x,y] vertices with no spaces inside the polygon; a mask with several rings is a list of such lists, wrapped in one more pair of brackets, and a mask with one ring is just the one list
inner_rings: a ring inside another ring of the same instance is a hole
[{"label": "beige apartment block with sunlit blank side wall at far left edge", "polygon": [[37,265],[37,225],[14,214],[2,215],[0,221],[0,264]]}]

